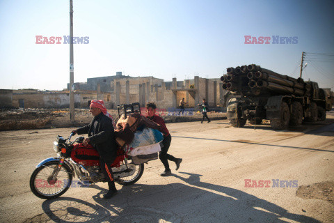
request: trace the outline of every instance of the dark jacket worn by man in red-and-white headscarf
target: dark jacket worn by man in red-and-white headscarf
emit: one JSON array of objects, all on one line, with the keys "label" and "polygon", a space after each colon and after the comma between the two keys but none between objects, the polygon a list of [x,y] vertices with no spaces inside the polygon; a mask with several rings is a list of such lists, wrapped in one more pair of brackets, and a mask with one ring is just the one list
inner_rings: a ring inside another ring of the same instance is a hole
[{"label": "dark jacket worn by man in red-and-white headscarf", "polygon": [[116,144],[113,123],[102,112],[93,121],[77,130],[78,134],[87,134],[90,144],[94,144],[100,157],[106,164],[112,164],[116,158],[118,145]]}]

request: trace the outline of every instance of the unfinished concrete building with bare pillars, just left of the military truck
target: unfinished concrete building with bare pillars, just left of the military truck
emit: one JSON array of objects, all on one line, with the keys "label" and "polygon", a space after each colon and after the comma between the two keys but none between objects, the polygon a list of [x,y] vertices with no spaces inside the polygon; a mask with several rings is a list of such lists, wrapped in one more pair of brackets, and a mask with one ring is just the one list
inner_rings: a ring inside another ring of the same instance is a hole
[{"label": "unfinished concrete building with bare pillars, just left of the military truck", "polygon": [[147,102],[155,102],[159,108],[176,108],[180,100],[185,98],[189,107],[196,108],[205,98],[210,107],[223,105],[225,91],[220,79],[205,79],[198,76],[185,79],[183,82],[164,82],[154,77],[136,77],[114,79],[116,89],[111,93],[111,101],[115,105],[139,102],[142,107]]}]

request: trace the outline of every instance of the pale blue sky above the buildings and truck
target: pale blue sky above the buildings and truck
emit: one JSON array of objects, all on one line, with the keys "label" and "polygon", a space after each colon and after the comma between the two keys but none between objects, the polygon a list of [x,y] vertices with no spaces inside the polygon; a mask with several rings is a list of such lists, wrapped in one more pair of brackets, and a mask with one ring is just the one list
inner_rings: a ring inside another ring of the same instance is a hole
[{"label": "pale blue sky above the buildings and truck", "polygon": [[[334,89],[334,1],[73,0],[74,82],[116,75],[170,81],[218,78],[255,63]],[[0,89],[61,90],[70,45],[35,36],[70,35],[70,1],[0,1]],[[298,37],[297,44],[244,44],[244,36]],[[332,90],[333,90],[332,89]]]}]

